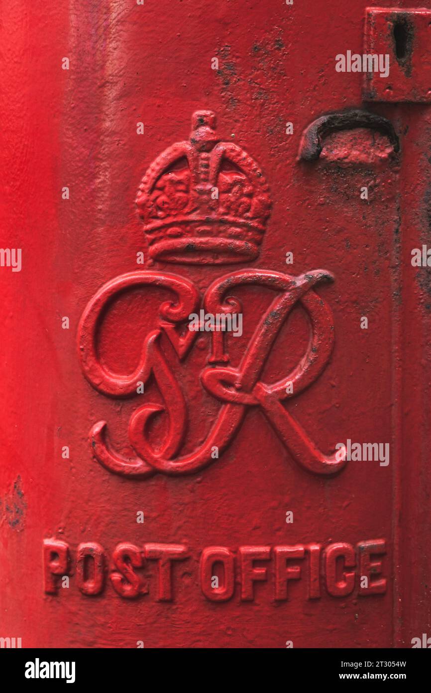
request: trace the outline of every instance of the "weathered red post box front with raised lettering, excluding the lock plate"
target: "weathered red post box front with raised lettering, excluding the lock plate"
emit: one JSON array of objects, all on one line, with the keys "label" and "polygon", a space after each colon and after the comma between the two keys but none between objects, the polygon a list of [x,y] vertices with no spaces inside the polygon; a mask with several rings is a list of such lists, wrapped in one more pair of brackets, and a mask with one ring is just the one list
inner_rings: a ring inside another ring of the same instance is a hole
[{"label": "weathered red post box front with raised lettering, excluding the lock plate", "polygon": [[3,6],[1,637],[431,635],[429,107],[321,10]]}]

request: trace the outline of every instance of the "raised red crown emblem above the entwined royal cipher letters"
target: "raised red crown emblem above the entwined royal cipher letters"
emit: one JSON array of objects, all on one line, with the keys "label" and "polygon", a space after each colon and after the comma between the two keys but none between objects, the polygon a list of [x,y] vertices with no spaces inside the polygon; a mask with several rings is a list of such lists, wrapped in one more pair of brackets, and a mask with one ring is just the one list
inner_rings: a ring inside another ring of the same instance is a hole
[{"label": "raised red crown emblem above the entwined royal cipher letters", "polygon": [[190,141],[167,148],[143,177],[136,204],[153,260],[227,264],[259,254],[268,185],[247,152],[219,141],[215,125],[212,111],[196,111]]}]

